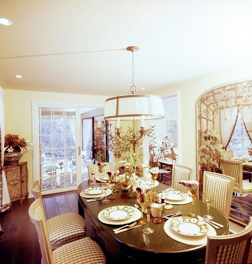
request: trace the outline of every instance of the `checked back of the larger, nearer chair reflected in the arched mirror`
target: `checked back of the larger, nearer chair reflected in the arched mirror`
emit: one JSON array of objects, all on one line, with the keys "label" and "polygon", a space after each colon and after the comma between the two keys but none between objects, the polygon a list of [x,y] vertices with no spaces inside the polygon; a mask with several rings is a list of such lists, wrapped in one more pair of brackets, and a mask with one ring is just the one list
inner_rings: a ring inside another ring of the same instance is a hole
[{"label": "checked back of the larger, nearer chair reflected in the arched mirror", "polygon": [[234,178],[234,186],[240,187],[240,193],[243,193],[242,189],[242,161],[238,160],[224,160],[220,159],[222,174]]}]

